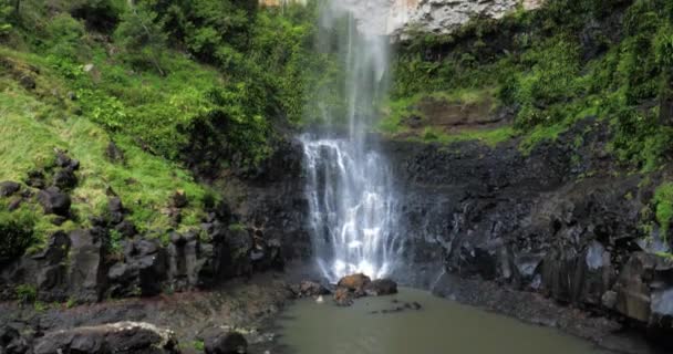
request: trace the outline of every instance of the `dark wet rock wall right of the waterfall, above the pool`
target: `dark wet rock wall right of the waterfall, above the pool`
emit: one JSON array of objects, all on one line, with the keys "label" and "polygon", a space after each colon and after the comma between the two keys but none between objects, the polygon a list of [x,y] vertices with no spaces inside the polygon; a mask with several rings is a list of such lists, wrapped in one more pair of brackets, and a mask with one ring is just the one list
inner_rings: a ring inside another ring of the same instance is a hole
[{"label": "dark wet rock wall right of the waterfall, above the pool", "polygon": [[589,118],[529,154],[517,142],[385,143],[414,264],[398,278],[432,288],[447,272],[670,330],[671,261],[655,254],[670,248],[640,229],[652,187],[600,153],[607,132]]}]

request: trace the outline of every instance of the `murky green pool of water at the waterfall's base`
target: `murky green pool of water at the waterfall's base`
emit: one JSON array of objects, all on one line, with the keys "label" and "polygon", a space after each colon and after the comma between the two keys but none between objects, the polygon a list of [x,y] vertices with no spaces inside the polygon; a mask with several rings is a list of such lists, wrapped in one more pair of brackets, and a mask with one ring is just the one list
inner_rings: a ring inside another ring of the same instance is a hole
[{"label": "murky green pool of water at the waterfall's base", "polygon": [[[381,313],[413,302],[422,309]],[[323,304],[300,301],[288,309],[280,326],[281,344],[297,354],[602,353],[552,329],[410,289],[396,296],[360,299],[351,308],[338,308],[331,299]]]}]

